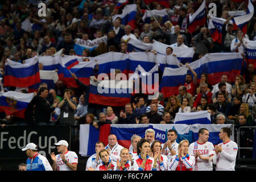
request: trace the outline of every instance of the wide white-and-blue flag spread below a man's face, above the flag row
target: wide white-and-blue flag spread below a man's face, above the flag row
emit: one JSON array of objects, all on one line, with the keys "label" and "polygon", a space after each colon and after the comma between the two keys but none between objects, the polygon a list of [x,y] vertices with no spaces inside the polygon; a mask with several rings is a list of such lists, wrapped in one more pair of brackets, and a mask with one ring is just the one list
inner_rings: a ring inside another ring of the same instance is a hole
[{"label": "wide white-and-blue flag spread below a man's face, above the flag row", "polygon": [[156,52],[166,55],[166,48],[172,47],[173,49],[172,53],[174,53],[177,56],[177,59],[181,63],[185,64],[187,62],[189,63],[192,62],[193,55],[195,53],[195,50],[192,47],[188,47],[188,48],[173,47],[173,46],[158,42],[156,40],[153,40],[153,41],[154,43],[152,44],[152,49],[154,49]]}]

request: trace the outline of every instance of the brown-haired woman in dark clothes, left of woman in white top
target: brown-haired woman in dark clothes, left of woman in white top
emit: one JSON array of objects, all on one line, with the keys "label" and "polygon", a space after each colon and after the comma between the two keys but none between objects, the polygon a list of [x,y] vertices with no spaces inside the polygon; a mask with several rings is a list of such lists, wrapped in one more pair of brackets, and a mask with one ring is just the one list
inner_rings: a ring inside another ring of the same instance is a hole
[{"label": "brown-haired woman in dark clothes, left of woman in white top", "polygon": [[[185,86],[183,87],[186,90]],[[175,118],[175,115],[177,112],[179,112],[179,109],[180,109],[180,102],[177,100],[175,96],[170,96],[168,98],[168,102],[166,104],[165,110],[171,114],[171,119]]]}]

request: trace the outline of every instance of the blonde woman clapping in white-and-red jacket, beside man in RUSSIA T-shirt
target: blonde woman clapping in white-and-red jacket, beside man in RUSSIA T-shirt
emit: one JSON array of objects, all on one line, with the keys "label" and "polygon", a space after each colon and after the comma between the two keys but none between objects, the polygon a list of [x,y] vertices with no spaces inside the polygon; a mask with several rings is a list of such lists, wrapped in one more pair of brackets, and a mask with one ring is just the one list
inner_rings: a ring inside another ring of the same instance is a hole
[{"label": "blonde woman clapping in white-and-red jacket, beside man in RUSSIA T-shirt", "polygon": [[168,171],[192,171],[196,159],[188,154],[188,140],[181,140],[178,147],[178,154],[172,156]]}]

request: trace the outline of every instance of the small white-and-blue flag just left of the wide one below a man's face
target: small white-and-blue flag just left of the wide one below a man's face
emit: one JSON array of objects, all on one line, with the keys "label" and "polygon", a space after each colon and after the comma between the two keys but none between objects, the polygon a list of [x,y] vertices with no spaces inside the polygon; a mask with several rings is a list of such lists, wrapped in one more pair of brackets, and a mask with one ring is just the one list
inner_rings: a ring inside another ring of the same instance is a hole
[{"label": "small white-and-blue flag just left of the wide one below a man's face", "polygon": [[144,52],[150,51],[152,49],[151,43],[143,43],[141,40],[131,38],[127,44],[127,51],[128,52]]}]

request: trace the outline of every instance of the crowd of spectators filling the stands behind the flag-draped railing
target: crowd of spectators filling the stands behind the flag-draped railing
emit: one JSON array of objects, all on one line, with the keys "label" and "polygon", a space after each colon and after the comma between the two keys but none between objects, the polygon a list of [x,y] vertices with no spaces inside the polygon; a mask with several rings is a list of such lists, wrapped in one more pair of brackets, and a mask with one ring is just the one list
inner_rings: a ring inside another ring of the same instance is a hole
[{"label": "crowd of spectators filling the stands behind the flag-draped railing", "polygon": [[[108,51],[127,52],[129,38],[151,43],[153,39],[176,47],[194,47],[197,60],[206,53],[245,51],[246,41],[256,39],[256,22],[253,17],[247,24],[247,33],[234,31],[229,22],[232,16],[228,11],[235,11],[240,4],[233,1],[213,0],[216,3],[217,17],[226,19],[222,28],[222,44],[213,42],[208,25],[197,27],[188,33],[186,19],[199,7],[202,0],[169,1],[170,9],[166,9],[169,20],[164,24],[152,22],[145,24],[142,20],[147,9],[143,1],[130,1],[137,4],[135,24],[137,28],[121,24],[122,9],[114,9],[117,1],[45,1],[46,17],[38,16],[38,1],[6,0],[0,7],[0,57],[1,73],[4,76],[6,59],[23,63],[25,59],[35,55],[54,55],[63,49],[64,55],[76,55],[73,47],[75,39],[93,40],[108,36],[107,44],[100,44],[94,51],[85,49],[82,56],[97,56]],[[151,3],[151,9],[162,10],[163,6]],[[246,10],[243,5],[241,10]],[[207,10],[208,11],[208,10]],[[159,26],[160,25],[160,26]],[[24,28],[26,30],[24,30]],[[237,41],[239,40],[239,43]],[[166,50],[167,55],[172,49]],[[216,85],[208,83],[206,74],[187,75],[184,85],[179,87],[176,96],[147,100],[146,94],[133,94],[131,103],[124,107],[110,107],[88,103],[88,86],[77,80],[79,88],[67,88],[63,81],[56,83],[55,89],[48,90],[41,84],[37,95],[27,108],[25,119],[1,113],[2,126],[9,125],[80,125],[90,124],[98,127],[104,123],[173,123],[176,113],[208,110],[213,124],[236,123],[239,125],[255,124],[256,103],[256,69],[253,64],[243,66],[241,75],[235,82],[228,82],[228,76],[222,75]],[[201,78],[200,82],[197,78]],[[5,90],[15,90],[8,87]],[[27,93],[27,90],[21,90]],[[111,101],[110,101],[111,102]]]}]

